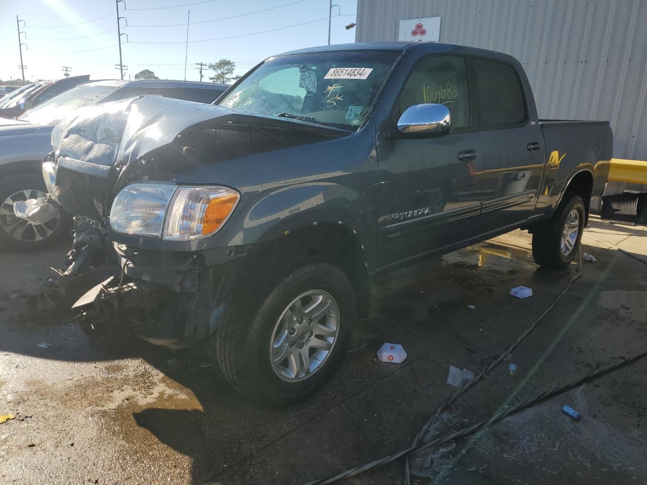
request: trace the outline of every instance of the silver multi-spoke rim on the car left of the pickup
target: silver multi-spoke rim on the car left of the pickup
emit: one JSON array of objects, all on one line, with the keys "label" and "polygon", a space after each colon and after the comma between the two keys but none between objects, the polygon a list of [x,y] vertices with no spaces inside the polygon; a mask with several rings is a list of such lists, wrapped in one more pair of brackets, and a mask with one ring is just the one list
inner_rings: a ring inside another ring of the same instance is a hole
[{"label": "silver multi-spoke rim on the car left of the pickup", "polygon": [[16,217],[14,214],[14,202],[38,199],[44,195],[45,192],[34,189],[12,193],[0,205],[0,228],[17,241],[23,242],[41,241],[52,235],[61,222],[61,211],[58,211],[56,216],[43,224],[32,224],[27,219]]}]

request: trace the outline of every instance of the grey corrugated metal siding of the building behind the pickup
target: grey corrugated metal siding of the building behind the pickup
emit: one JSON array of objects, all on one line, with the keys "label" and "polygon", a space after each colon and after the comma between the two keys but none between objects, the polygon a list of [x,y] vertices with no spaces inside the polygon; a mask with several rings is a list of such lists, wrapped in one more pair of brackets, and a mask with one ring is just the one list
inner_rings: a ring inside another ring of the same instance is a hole
[{"label": "grey corrugated metal siding of the building behind the pickup", "polygon": [[609,120],[613,156],[647,160],[647,0],[358,0],[356,40],[435,16],[441,42],[519,59],[540,118]]}]

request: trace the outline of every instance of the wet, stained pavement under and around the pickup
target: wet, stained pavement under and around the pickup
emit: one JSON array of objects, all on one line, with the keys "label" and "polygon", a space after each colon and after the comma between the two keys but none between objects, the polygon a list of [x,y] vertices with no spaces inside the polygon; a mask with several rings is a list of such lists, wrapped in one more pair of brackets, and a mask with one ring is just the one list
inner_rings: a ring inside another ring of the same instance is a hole
[{"label": "wet, stained pavement under and around the pickup", "polygon": [[[425,439],[646,347],[646,238],[645,228],[593,218],[582,241],[597,263],[584,263],[553,312]],[[454,393],[450,364],[477,374],[576,271],[540,270],[529,235],[514,232],[389,274],[331,382],[268,409],[204,361],[144,342],[89,343],[63,305],[33,296],[66,250],[0,254],[0,415],[16,416],[0,424],[0,484],[300,484],[399,451]],[[534,296],[509,296],[518,285]],[[404,346],[404,363],[377,360],[385,341]],[[413,460],[413,482],[646,483],[646,379],[647,359],[430,449]],[[402,483],[402,468],[346,483]]]}]

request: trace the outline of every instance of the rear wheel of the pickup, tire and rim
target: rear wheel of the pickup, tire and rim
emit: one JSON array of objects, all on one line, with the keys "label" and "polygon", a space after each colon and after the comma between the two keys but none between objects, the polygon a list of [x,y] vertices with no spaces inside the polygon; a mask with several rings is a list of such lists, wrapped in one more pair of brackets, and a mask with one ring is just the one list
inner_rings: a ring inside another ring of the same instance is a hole
[{"label": "rear wheel of the pickup, tire and rim", "polygon": [[585,221],[584,200],[573,195],[532,234],[534,261],[549,269],[565,268],[571,264],[582,239]]}]

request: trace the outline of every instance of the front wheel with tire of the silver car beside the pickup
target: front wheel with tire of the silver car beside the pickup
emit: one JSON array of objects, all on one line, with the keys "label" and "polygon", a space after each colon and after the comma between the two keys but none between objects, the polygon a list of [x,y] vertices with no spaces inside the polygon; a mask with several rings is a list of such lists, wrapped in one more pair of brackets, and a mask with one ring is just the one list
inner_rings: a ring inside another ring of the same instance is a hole
[{"label": "front wheel with tire of the silver car beside the pickup", "polygon": [[38,250],[60,239],[71,227],[71,218],[60,210],[43,224],[32,224],[14,215],[14,202],[38,199],[47,193],[39,175],[10,175],[0,182],[0,246],[14,251]]}]

